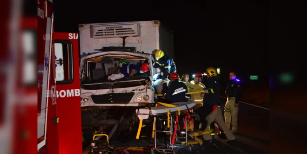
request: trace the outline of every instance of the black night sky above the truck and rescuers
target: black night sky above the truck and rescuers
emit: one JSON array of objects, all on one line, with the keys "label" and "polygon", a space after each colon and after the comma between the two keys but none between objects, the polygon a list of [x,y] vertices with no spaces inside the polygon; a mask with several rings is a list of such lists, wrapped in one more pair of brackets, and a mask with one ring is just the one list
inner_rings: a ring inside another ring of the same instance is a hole
[{"label": "black night sky above the truck and rescuers", "polygon": [[[159,20],[174,32],[179,75],[221,68],[249,82],[269,84],[268,10],[258,1],[54,0],[54,30],[78,32],[79,23]],[[188,3],[190,2],[190,3]]]}]

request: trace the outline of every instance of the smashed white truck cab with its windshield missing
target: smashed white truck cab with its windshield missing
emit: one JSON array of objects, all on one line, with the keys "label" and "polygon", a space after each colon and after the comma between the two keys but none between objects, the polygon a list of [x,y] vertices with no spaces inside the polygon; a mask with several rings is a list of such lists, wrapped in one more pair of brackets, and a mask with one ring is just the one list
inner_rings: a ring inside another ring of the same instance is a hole
[{"label": "smashed white truck cab with its windshield missing", "polygon": [[[116,50],[116,47],[113,48]],[[121,49],[122,50],[122,49]],[[102,51],[81,59],[81,107],[142,106],[154,103],[152,55],[127,51]],[[110,79],[122,63],[140,65],[149,62],[148,73]]]}]

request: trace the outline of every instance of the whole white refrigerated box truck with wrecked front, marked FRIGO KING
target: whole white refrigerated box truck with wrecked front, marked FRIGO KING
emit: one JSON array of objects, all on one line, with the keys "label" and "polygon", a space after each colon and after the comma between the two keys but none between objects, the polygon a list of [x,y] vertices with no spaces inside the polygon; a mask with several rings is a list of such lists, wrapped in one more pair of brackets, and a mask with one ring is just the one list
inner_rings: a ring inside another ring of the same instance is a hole
[{"label": "whole white refrigerated box truck with wrecked front, marked FRIGO KING", "polygon": [[[174,57],[172,31],[159,21],[79,24],[83,126],[113,126],[124,111],[154,103],[156,49]],[[149,64],[147,73],[109,79],[122,64]],[[129,122],[136,122],[131,115]],[[128,124],[128,122],[127,122]]]}]

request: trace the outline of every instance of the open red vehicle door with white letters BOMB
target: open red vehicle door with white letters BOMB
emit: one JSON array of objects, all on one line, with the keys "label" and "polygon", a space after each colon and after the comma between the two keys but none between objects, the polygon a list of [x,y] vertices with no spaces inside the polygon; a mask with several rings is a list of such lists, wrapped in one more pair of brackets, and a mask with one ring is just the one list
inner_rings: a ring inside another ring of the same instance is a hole
[{"label": "open red vehicle door with white letters BOMB", "polygon": [[[70,37],[70,36],[75,37]],[[59,153],[82,153],[78,33],[54,33]]]}]

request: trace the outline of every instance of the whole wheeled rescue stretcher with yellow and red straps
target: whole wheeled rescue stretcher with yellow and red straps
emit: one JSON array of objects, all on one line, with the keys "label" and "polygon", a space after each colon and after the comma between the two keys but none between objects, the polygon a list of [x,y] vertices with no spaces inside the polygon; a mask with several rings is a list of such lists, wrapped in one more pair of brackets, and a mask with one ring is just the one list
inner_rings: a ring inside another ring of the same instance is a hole
[{"label": "whole wheeled rescue stretcher with yellow and red straps", "polygon": [[[154,117],[153,128],[152,128],[152,138],[154,138],[154,147],[151,149],[151,153],[153,154],[154,151],[162,152],[162,153],[175,153],[177,149],[174,149],[174,145],[179,138],[184,139],[185,142],[182,142],[181,145],[188,147],[189,151],[192,151],[191,144],[188,142],[188,133],[187,133],[187,120],[191,119],[189,110],[195,107],[196,103],[193,102],[176,102],[176,103],[161,103],[158,102],[161,106],[155,107],[144,107],[136,109],[136,115],[140,119],[139,129],[136,135],[136,139],[140,137],[140,131],[142,128],[142,122],[144,119],[148,119],[149,116]],[[167,119],[167,128],[168,130],[156,130],[156,119],[158,117],[165,117]],[[181,134],[177,128],[179,123],[179,117],[184,116],[184,126],[185,134]],[[174,130],[173,130],[174,129]],[[177,136],[177,131],[183,137]],[[164,132],[169,134],[169,142],[170,144],[165,144],[164,146],[157,146],[157,138],[156,132]],[[212,132],[212,131],[211,131]],[[210,132],[206,132],[210,133]],[[198,143],[198,142],[196,142]]]}]

